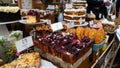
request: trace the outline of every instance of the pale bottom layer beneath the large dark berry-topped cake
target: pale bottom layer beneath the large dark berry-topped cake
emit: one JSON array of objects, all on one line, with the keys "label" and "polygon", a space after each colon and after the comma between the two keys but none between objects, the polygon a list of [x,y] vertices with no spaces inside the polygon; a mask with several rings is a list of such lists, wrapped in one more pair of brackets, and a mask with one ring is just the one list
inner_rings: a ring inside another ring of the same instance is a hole
[{"label": "pale bottom layer beneath the large dark berry-topped cake", "polygon": [[86,58],[89,57],[89,55],[92,53],[92,49],[89,49],[85,55],[83,55],[81,58],[79,58],[75,63],[67,63],[60,59],[57,56],[53,56],[49,53],[44,54],[40,49],[36,48],[36,51],[40,52],[41,56],[44,57],[45,59],[49,60],[53,64],[57,65],[58,68],[78,68],[80,64],[82,64],[83,61],[85,61]]}]

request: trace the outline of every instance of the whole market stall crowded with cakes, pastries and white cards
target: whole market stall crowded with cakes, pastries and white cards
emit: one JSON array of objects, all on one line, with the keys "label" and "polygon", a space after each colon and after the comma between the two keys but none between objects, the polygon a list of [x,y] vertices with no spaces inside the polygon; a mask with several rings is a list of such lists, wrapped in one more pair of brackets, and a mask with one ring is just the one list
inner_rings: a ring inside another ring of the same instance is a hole
[{"label": "whole market stall crowded with cakes, pastries and white cards", "polygon": [[[112,67],[120,47],[117,19],[111,14],[97,20],[87,6],[79,0],[0,6],[0,68]],[[3,24],[12,23],[21,31],[3,30]]]}]

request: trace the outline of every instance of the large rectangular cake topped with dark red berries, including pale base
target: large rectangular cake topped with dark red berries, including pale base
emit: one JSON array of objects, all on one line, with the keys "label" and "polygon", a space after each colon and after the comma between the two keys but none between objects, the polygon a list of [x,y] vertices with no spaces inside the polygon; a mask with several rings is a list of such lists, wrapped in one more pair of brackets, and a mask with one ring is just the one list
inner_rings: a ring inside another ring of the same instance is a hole
[{"label": "large rectangular cake topped with dark red berries, including pale base", "polygon": [[35,41],[41,56],[63,68],[77,66],[92,53],[93,40],[84,37],[78,40],[72,33],[54,32]]}]

